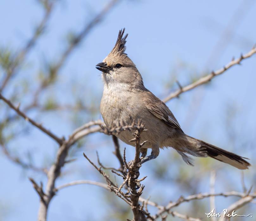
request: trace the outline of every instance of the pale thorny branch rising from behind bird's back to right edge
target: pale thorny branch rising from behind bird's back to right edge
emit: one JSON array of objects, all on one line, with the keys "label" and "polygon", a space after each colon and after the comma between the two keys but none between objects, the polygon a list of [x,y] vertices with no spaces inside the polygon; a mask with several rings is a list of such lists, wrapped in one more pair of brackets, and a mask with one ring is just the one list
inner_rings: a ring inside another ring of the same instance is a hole
[{"label": "pale thorny branch rising from behind bird's back to right edge", "polygon": [[223,72],[225,72],[226,70],[228,70],[229,68],[231,68],[232,66],[236,65],[236,64],[240,64],[240,62],[243,59],[246,59],[248,57],[251,57],[253,54],[256,53],[256,49],[253,48],[251,51],[249,51],[247,54],[240,56],[239,58],[232,60],[231,62],[229,62],[227,65],[225,65],[223,68],[217,70],[217,71],[213,71],[211,72],[209,75],[200,78],[199,80],[197,80],[196,82],[187,85],[185,87],[180,87],[177,91],[171,93],[169,96],[167,96],[165,99],[163,99],[163,102],[167,102],[175,97],[178,97],[181,93],[184,93],[186,91],[189,91],[195,87],[198,87],[199,85],[202,85],[208,81],[210,81],[213,77],[215,77],[216,75],[220,75]]}]

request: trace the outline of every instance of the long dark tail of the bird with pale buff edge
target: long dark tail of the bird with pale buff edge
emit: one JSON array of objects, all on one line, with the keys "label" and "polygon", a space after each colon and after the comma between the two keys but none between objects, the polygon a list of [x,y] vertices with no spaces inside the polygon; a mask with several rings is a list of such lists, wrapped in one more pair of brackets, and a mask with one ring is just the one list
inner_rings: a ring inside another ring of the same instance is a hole
[{"label": "long dark tail of the bird with pale buff edge", "polygon": [[196,144],[195,152],[204,153],[208,157],[214,158],[226,164],[230,164],[231,166],[234,166],[240,170],[249,169],[248,167],[252,166],[250,163],[244,160],[248,158],[240,157],[232,152],[228,152],[217,146],[213,146],[209,143],[206,143],[202,140],[197,140],[196,138],[190,137],[188,135],[186,136],[190,142],[192,141],[192,143]]}]

